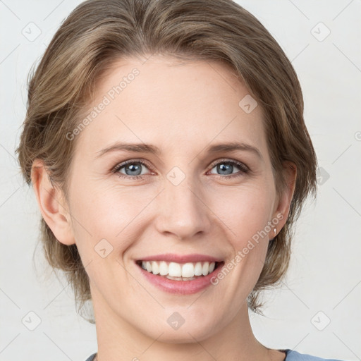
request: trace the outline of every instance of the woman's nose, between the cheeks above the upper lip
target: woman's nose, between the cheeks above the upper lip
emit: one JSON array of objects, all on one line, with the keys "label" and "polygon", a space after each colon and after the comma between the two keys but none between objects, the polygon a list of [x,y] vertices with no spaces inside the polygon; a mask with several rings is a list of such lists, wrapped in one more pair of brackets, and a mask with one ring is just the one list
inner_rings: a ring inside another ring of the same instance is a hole
[{"label": "woman's nose, between the cheeks above the upper lip", "polygon": [[157,231],[181,240],[207,234],[212,225],[212,212],[207,207],[204,192],[197,182],[186,177],[174,185],[168,179],[157,197]]}]

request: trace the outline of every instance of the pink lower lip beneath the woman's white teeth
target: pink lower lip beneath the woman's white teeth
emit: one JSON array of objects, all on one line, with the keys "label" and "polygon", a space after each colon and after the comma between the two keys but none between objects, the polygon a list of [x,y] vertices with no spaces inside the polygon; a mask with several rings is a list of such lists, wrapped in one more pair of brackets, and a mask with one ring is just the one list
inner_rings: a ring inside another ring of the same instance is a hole
[{"label": "pink lower lip beneath the woman's white teeth", "polygon": [[212,285],[211,279],[217,276],[223,266],[224,262],[221,262],[221,264],[219,264],[219,266],[214,269],[212,273],[208,274],[207,276],[202,276],[198,279],[193,279],[192,281],[175,281],[173,279],[166,279],[164,276],[151,274],[136,264],[136,267],[140,269],[142,275],[145,276],[147,281],[153,283],[154,286],[157,286],[161,290],[169,293],[176,293],[178,295],[191,295],[193,293],[200,292],[200,290],[203,290],[204,288]]}]

